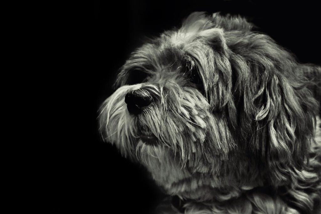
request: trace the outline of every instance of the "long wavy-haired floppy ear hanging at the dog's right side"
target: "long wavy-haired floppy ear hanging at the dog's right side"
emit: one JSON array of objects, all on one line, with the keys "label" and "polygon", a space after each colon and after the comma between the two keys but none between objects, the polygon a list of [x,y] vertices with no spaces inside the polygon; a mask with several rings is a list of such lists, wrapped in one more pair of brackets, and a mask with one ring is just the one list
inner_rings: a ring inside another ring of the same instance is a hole
[{"label": "long wavy-haired floppy ear hanging at the dog's right side", "polygon": [[278,56],[268,56],[268,50],[265,56],[253,52],[252,63],[247,62],[250,74],[236,72],[238,132],[247,151],[265,166],[262,173],[278,186],[302,176],[318,104],[300,64],[276,45],[261,48],[263,53],[274,48]]}]

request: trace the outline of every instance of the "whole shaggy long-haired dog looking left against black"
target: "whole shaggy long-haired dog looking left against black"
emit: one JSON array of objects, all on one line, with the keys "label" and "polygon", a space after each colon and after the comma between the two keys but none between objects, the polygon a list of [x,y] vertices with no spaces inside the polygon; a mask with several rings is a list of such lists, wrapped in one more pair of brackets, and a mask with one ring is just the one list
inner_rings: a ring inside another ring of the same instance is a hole
[{"label": "whole shaggy long-haired dog looking left against black", "polygon": [[178,200],[163,213],[321,213],[321,69],[252,28],[192,13],[101,106],[103,138]]}]

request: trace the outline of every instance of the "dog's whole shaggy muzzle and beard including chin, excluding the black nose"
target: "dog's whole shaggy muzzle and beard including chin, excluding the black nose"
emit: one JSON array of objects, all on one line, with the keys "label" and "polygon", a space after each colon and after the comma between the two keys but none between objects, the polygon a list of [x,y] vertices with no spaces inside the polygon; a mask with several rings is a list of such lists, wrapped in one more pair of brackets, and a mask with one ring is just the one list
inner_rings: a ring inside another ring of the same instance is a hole
[{"label": "dog's whole shaggy muzzle and beard including chin, excluding the black nose", "polygon": [[[137,89],[149,93],[154,101],[135,116],[124,100],[129,91]],[[210,113],[207,99],[198,90],[175,83],[122,86],[100,112],[104,139],[115,143],[125,157],[145,165],[165,188],[188,178],[190,172],[208,173],[226,158],[232,139],[226,126]],[[142,135],[149,133],[155,138],[146,141]]]}]

